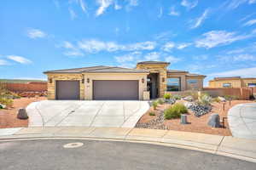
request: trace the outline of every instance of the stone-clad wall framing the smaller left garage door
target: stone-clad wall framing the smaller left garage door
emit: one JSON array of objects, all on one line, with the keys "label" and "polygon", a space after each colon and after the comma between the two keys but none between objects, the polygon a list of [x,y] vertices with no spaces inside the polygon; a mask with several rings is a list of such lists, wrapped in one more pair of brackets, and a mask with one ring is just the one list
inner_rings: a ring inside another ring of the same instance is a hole
[{"label": "stone-clad wall framing the smaller left garage door", "polygon": [[[56,81],[58,80],[79,80],[80,81],[80,99],[84,99],[84,84],[82,83],[83,75],[82,74],[48,74],[48,99],[55,99],[55,89]],[[49,79],[52,79],[52,82],[49,82]]]}]

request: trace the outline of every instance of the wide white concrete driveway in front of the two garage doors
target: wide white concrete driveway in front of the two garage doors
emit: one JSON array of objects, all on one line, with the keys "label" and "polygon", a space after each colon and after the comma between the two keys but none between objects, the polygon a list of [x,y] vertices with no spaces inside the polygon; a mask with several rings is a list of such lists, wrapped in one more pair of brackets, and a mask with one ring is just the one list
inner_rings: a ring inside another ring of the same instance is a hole
[{"label": "wide white concrete driveway in front of the two garage doors", "polygon": [[26,107],[29,127],[135,127],[147,101],[43,100]]}]

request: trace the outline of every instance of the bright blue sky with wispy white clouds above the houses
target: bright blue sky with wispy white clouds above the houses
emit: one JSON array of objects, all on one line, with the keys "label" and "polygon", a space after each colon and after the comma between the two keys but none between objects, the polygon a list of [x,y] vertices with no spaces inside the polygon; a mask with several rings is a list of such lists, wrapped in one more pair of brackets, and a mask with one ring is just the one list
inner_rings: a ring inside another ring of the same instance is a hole
[{"label": "bright blue sky with wispy white clouds above the houses", "polygon": [[5,0],[0,44],[0,78],[142,60],[256,77],[256,0]]}]

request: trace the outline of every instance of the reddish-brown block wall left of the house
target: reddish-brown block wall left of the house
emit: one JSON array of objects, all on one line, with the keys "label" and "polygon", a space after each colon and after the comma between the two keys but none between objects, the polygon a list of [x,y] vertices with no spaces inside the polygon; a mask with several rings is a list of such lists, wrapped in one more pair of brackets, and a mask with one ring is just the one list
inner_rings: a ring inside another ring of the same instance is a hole
[{"label": "reddish-brown block wall left of the house", "polygon": [[12,92],[44,92],[47,91],[47,82],[40,83],[9,83],[0,82],[0,85]]}]

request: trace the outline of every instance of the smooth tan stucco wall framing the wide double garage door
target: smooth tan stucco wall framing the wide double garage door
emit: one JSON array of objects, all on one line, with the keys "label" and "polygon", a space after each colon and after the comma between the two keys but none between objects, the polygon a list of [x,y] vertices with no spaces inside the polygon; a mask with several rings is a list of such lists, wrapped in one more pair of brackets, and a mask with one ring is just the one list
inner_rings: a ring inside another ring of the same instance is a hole
[{"label": "smooth tan stucco wall framing the wide double garage door", "polygon": [[[87,73],[84,74],[84,99],[93,99],[93,80],[137,80],[139,82],[139,99],[143,99],[143,91],[147,90],[148,73]],[[87,78],[90,82],[87,82]],[[144,79],[144,82],[142,81]]]}]

